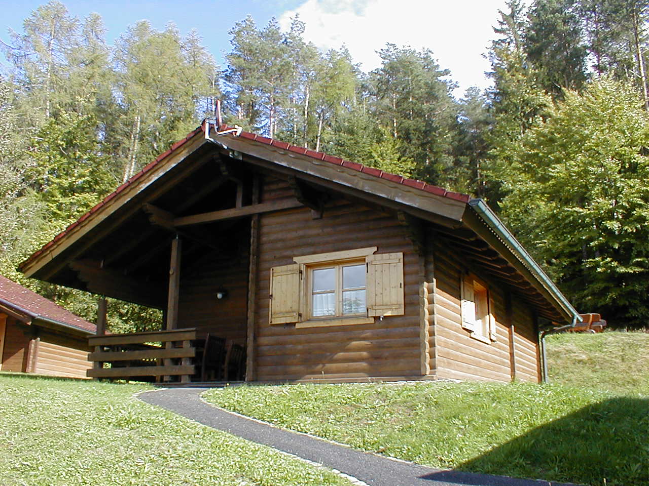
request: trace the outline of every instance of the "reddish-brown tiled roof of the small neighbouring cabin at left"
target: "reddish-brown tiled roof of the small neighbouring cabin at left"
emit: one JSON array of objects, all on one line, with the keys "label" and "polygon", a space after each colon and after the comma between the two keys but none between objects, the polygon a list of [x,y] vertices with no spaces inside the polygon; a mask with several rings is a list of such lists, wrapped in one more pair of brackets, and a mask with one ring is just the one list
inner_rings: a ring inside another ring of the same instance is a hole
[{"label": "reddish-brown tiled roof of the small neighbouring cabin at left", "polygon": [[2,275],[0,275],[0,304],[16,310],[19,314],[26,314],[32,319],[44,318],[62,326],[76,327],[88,332],[97,330],[92,322],[72,314],[69,310]]}]

